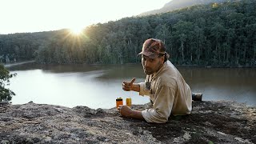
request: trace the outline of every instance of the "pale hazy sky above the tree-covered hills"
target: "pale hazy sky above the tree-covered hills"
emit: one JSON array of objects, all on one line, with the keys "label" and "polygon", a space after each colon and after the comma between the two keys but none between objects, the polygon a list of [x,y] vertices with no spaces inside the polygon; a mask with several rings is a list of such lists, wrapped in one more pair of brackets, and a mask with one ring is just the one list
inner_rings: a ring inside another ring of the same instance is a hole
[{"label": "pale hazy sky above the tree-covered hills", "polygon": [[159,9],[171,0],[0,0],[0,34],[79,29]]}]

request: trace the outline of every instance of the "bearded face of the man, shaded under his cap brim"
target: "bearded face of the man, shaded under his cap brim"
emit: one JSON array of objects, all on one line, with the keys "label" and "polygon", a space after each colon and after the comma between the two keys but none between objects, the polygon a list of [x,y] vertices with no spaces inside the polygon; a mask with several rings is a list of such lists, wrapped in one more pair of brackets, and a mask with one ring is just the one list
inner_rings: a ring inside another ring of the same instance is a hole
[{"label": "bearded face of the man, shaded under his cap brim", "polygon": [[164,57],[149,58],[142,55],[142,66],[145,74],[154,74],[160,70],[164,62]]}]

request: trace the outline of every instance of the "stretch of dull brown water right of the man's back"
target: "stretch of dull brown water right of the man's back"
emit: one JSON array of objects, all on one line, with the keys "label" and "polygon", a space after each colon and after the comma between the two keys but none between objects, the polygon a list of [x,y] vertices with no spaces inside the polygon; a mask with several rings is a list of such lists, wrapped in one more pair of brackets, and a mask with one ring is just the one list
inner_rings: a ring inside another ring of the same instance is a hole
[{"label": "stretch of dull brown water right of the man's back", "polygon": [[245,68],[180,68],[191,90],[205,100],[230,100],[256,105],[256,70]]}]

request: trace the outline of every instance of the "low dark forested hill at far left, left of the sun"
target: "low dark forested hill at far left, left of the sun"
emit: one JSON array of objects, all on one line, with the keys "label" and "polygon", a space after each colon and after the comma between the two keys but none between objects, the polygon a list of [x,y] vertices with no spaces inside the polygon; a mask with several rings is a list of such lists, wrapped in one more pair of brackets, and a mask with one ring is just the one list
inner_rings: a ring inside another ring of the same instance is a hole
[{"label": "low dark forested hill at far left, left of the sun", "polygon": [[35,50],[50,41],[58,31],[0,34],[0,62],[31,60]]}]

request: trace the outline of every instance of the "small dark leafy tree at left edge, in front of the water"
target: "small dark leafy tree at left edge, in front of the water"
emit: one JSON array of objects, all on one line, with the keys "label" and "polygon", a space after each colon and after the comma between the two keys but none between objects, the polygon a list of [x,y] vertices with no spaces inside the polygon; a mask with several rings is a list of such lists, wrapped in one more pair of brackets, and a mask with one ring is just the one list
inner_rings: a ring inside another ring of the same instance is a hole
[{"label": "small dark leafy tree at left edge, in front of the water", "polygon": [[0,64],[0,102],[10,101],[12,96],[15,95],[14,92],[5,86],[10,85],[10,78],[14,77],[16,74],[10,74],[6,68]]}]

